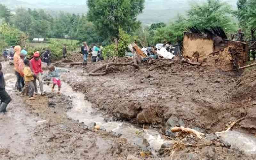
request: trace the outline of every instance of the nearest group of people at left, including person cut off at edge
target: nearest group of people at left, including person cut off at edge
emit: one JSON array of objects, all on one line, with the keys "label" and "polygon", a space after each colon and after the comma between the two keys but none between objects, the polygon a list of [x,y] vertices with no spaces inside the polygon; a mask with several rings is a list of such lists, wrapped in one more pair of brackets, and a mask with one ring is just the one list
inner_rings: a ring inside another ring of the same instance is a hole
[{"label": "nearest group of people at left, including person cut off at edge", "polygon": [[[46,53],[44,52],[43,60],[47,60]],[[29,100],[35,100],[35,95],[38,94],[36,80],[39,82],[41,95],[44,96],[44,84],[43,84],[43,69],[42,61],[40,59],[40,53],[35,52],[33,58],[28,60],[25,58],[25,55],[21,52],[21,47],[19,45],[14,47],[14,56],[13,56],[14,70],[15,75],[17,76],[17,89],[20,92],[20,96],[23,97],[25,94],[29,96]],[[52,92],[54,88],[58,85],[58,94],[60,94],[61,88],[61,72],[69,72],[65,68],[57,68],[53,65],[48,66],[49,72],[46,76],[52,78]],[[0,63],[0,113],[6,112],[7,105],[11,102],[10,95],[5,91],[5,80],[4,74],[1,71],[2,64]]]}]

